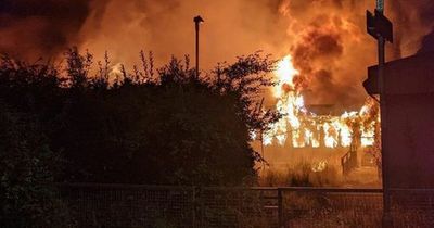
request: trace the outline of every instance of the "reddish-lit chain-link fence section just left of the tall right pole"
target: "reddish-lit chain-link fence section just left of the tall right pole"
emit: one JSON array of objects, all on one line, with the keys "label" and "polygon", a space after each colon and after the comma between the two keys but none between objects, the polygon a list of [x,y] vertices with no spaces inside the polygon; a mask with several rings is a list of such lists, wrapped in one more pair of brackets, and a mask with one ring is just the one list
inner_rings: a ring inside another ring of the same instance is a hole
[{"label": "reddish-lit chain-link fence section just left of the tall right pole", "polygon": [[284,227],[379,227],[382,193],[378,189],[285,188]]}]

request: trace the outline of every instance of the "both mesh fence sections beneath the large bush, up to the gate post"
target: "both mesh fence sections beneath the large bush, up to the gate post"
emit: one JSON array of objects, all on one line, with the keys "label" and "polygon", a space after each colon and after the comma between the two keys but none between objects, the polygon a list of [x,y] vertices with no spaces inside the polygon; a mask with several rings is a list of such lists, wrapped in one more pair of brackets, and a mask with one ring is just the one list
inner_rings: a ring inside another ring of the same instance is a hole
[{"label": "both mesh fence sections beneath the large bush, up to the gate post", "polygon": [[61,185],[79,227],[278,227],[272,188]]}]

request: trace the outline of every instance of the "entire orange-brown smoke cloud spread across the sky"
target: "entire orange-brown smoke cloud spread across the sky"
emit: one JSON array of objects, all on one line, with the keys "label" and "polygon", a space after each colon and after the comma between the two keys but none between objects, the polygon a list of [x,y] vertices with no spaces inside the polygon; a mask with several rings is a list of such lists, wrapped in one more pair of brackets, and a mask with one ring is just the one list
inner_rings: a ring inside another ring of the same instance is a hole
[{"label": "entire orange-brown smoke cloud spread across the sky", "polygon": [[[433,43],[424,38],[433,27],[433,5],[386,1],[396,31],[390,60]],[[365,28],[367,9],[374,9],[374,0],[2,0],[0,52],[36,60],[78,46],[99,60],[108,51],[112,64],[123,62],[128,69],[145,49],[162,64],[171,54],[194,53],[192,18],[201,14],[203,69],[256,50],[292,54],[307,104],[349,107],[363,102],[366,67],[376,61]]]}]

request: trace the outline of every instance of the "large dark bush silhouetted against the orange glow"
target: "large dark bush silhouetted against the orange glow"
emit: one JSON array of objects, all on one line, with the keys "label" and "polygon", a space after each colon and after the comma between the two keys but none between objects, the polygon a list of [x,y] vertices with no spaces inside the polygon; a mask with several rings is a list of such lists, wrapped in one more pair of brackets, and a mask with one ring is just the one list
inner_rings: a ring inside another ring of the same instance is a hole
[{"label": "large dark bush silhouetted against the orange glow", "polygon": [[75,48],[64,71],[51,64],[3,58],[0,98],[31,113],[48,144],[67,163],[60,181],[166,185],[241,185],[256,177],[261,157],[250,132],[280,116],[265,110],[260,89],[272,85],[273,61],[260,53],[194,76],[189,58],[155,73],[153,55],[140,53],[132,73],[108,55]]}]

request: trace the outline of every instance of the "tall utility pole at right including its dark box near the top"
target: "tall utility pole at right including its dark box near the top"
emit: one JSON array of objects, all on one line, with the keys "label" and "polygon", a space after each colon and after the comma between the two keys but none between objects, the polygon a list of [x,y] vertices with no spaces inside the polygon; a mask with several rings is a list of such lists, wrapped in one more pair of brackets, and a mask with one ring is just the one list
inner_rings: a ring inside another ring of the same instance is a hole
[{"label": "tall utility pole at right including its dark box near the top", "polygon": [[380,93],[380,112],[381,112],[381,174],[383,183],[383,227],[393,227],[391,214],[391,192],[387,179],[390,152],[386,148],[387,136],[387,112],[386,112],[386,77],[385,77],[385,42],[393,42],[393,25],[384,16],[384,0],[376,0],[375,15],[367,11],[368,34],[378,40],[378,58],[379,58],[379,93]]}]

